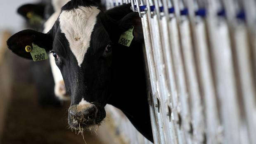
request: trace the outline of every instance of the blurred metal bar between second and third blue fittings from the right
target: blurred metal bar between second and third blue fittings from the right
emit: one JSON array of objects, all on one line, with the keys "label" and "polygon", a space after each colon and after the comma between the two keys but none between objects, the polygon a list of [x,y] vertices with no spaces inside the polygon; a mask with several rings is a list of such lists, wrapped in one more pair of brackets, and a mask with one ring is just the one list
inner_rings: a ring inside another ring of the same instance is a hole
[{"label": "blurred metal bar between second and third blue fittings from the right", "polygon": [[[218,95],[221,120],[224,128],[224,143],[237,144],[239,139],[239,109],[235,74],[232,63],[232,51],[228,26],[225,19],[218,18],[218,1],[209,2],[207,25],[210,37],[211,57]],[[230,121],[232,120],[232,121]]]}]

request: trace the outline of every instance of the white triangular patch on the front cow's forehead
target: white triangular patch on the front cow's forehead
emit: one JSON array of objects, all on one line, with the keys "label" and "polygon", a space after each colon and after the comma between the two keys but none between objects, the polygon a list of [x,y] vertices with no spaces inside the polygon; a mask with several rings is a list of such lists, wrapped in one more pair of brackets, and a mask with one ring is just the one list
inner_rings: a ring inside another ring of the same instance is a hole
[{"label": "white triangular patch on the front cow's forehead", "polygon": [[64,10],[59,15],[60,30],[69,41],[69,47],[81,67],[87,49],[90,47],[92,30],[100,10],[97,7],[82,7]]}]

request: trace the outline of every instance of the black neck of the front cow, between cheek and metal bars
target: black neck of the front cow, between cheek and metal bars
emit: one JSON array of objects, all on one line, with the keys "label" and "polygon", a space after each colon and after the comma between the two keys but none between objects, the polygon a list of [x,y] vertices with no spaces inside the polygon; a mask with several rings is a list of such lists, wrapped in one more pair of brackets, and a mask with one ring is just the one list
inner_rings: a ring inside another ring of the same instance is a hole
[{"label": "black neck of the front cow, between cheek and metal bars", "polygon": [[123,111],[135,128],[153,142],[144,67],[141,44],[113,49],[112,96],[109,104]]}]

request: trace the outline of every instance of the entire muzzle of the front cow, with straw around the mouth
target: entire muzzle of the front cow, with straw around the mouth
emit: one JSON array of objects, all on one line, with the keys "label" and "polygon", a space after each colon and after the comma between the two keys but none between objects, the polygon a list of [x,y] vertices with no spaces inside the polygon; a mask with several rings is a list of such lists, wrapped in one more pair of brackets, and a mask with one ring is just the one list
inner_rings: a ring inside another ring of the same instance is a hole
[{"label": "entire muzzle of the front cow, with straw around the mouth", "polygon": [[101,125],[106,117],[104,107],[93,104],[72,105],[69,107],[69,125],[71,129],[83,132],[91,130],[94,126]]}]

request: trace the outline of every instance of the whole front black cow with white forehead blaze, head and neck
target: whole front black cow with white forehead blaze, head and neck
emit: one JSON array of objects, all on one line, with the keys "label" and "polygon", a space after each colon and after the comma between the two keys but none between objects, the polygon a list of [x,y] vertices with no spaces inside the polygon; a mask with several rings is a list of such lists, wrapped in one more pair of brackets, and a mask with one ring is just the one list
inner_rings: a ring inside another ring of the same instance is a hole
[{"label": "whole front black cow with white forehead blaze, head and neck", "polygon": [[[129,47],[119,44],[119,37],[131,26],[132,43]],[[71,0],[48,33],[22,30],[7,45],[28,59],[32,58],[25,47],[32,43],[53,54],[71,95],[71,128],[100,125],[106,116],[104,106],[110,104],[153,142],[142,42],[140,17],[130,4],[102,12],[90,0]]]}]

